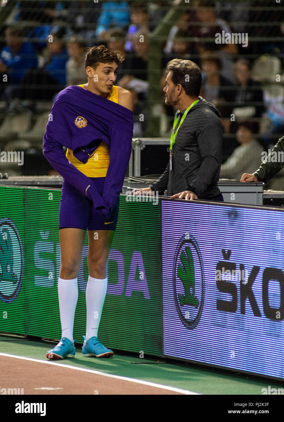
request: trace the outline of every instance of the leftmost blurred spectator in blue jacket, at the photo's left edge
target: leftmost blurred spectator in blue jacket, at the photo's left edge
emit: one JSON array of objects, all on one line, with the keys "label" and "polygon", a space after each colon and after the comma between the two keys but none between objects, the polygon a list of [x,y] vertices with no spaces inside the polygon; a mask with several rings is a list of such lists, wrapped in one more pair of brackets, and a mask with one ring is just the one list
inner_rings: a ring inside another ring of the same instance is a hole
[{"label": "leftmost blurred spectator in blue jacket, at the photo's left edge", "polygon": [[18,27],[5,30],[5,41],[6,46],[0,53],[0,72],[7,75],[7,79],[1,78],[1,95],[9,102],[27,70],[37,69],[38,57],[33,45],[24,42]]}]

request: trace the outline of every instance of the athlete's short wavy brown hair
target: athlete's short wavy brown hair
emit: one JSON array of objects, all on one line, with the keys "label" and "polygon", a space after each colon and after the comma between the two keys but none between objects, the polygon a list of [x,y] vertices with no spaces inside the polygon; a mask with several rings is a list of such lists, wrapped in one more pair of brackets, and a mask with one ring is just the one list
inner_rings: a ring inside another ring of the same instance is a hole
[{"label": "athlete's short wavy brown hair", "polygon": [[86,69],[90,66],[93,69],[96,69],[99,63],[111,63],[116,62],[117,64],[122,63],[124,56],[119,50],[110,50],[104,45],[97,47],[90,47],[87,50],[85,66]]}]

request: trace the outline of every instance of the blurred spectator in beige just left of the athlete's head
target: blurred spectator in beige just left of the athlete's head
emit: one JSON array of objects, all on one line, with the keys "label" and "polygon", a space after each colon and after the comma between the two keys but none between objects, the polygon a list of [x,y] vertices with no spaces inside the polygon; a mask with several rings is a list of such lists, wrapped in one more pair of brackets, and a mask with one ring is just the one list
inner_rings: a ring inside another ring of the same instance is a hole
[{"label": "blurred spectator in beige just left of the athlete's head", "polygon": [[85,48],[84,40],[71,37],[67,43],[69,60],[66,63],[67,86],[81,85],[87,81],[85,66]]}]

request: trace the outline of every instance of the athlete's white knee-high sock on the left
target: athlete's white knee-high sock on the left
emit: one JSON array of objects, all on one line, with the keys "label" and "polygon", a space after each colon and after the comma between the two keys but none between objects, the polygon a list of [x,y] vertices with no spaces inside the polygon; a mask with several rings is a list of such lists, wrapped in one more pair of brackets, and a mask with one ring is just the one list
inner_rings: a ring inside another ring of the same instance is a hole
[{"label": "athlete's white knee-high sock on the left", "polygon": [[73,341],[75,308],[78,300],[78,278],[64,280],[58,278],[58,299],[62,337]]}]

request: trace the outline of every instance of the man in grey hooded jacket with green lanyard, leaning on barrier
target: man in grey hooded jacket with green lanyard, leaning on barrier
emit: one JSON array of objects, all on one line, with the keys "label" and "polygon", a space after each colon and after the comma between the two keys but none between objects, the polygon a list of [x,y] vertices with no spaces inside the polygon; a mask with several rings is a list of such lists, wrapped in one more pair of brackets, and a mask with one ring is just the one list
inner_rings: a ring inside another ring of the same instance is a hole
[{"label": "man in grey hooded jacket with green lanyard, leaning on barrier", "polygon": [[150,188],[133,194],[159,192],[171,199],[222,201],[217,186],[222,160],[222,123],[217,108],[199,96],[200,68],[190,60],[173,59],[166,67],[165,103],[176,106],[170,161]]}]

